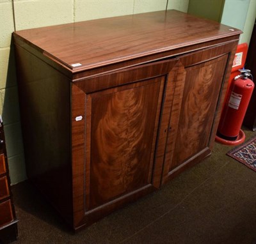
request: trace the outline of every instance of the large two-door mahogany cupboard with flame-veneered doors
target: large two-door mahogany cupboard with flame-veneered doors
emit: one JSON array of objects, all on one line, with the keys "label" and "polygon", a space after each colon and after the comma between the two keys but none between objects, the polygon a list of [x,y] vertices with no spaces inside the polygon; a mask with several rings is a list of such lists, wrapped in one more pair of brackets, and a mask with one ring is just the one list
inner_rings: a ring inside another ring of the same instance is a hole
[{"label": "large two-door mahogany cupboard with flame-veneered doors", "polygon": [[74,229],[211,154],[240,33],[175,10],[13,33],[28,178]]}]

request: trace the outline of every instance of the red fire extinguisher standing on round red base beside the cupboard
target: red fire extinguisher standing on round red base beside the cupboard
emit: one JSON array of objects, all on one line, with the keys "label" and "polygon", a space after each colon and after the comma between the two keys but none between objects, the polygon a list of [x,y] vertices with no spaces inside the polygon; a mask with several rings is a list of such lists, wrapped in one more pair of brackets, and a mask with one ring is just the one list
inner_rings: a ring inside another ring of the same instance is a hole
[{"label": "red fire extinguisher standing on round red base beside the cupboard", "polygon": [[252,96],[254,84],[248,77],[252,77],[250,70],[239,70],[228,93],[224,105],[216,141],[222,144],[237,145],[244,142],[245,135],[241,130],[244,115]]}]

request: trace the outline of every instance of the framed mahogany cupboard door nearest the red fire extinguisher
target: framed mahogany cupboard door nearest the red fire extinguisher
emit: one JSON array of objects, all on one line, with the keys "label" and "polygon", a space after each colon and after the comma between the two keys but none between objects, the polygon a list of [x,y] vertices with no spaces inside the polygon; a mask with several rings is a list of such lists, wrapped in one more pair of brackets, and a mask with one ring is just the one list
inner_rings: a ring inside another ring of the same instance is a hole
[{"label": "framed mahogany cupboard door nearest the red fire extinguisher", "polygon": [[180,57],[184,79],[170,116],[163,183],[211,154],[232,50],[229,44]]}]

